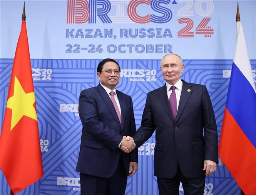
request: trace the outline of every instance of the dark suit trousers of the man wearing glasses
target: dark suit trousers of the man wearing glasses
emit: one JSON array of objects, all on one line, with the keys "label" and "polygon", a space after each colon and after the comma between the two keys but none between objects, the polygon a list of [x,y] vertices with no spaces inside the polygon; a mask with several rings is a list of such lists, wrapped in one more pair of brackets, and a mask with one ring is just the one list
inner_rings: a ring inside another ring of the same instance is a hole
[{"label": "dark suit trousers of the man wearing glasses", "polygon": [[127,174],[122,156],[111,177],[96,177],[80,173],[81,195],[124,195]]}]

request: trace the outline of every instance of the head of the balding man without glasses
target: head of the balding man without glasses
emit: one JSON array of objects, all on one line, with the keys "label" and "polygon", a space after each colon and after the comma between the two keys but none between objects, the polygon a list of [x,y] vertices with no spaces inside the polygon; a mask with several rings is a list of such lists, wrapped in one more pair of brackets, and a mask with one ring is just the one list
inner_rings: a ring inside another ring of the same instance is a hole
[{"label": "head of the balding man without glasses", "polygon": [[161,62],[161,71],[163,74],[164,80],[167,83],[174,85],[181,79],[181,73],[184,70],[184,64],[181,64],[178,56],[176,55],[167,55],[162,59]]}]

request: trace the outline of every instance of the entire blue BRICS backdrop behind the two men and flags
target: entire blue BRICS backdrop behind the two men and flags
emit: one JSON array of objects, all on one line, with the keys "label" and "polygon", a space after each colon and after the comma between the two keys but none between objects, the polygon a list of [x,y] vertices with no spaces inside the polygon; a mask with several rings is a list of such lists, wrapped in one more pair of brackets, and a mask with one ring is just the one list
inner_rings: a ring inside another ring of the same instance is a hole
[{"label": "entire blue BRICS backdrop behind the two men and flags", "polygon": [[[256,83],[256,1],[241,0],[239,7]],[[104,58],[120,64],[117,89],[131,95],[138,128],[147,93],[165,83],[160,59],[180,55],[182,79],[209,91],[219,136],[236,45],[236,8],[230,0],[26,1],[44,176],[18,195],[80,194],[75,172],[82,131],[79,94],[97,86],[96,68]],[[22,9],[23,0],[0,0],[0,129]],[[139,170],[128,178],[126,195],[158,195],[154,146],[153,135],[139,148]],[[239,193],[226,167],[218,165],[206,177],[204,195]],[[8,194],[0,170],[0,195]]]}]

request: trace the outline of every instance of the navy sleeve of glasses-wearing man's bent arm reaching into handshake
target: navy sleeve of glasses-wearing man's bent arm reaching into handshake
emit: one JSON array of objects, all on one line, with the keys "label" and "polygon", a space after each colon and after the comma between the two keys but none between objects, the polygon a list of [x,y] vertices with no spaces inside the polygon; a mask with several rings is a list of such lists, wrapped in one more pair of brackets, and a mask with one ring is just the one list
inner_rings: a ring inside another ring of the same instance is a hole
[{"label": "navy sleeve of glasses-wearing man's bent arm reaching into handshake", "polygon": [[99,121],[97,102],[90,91],[82,91],[79,97],[79,116],[83,130],[115,150],[122,136]]}]

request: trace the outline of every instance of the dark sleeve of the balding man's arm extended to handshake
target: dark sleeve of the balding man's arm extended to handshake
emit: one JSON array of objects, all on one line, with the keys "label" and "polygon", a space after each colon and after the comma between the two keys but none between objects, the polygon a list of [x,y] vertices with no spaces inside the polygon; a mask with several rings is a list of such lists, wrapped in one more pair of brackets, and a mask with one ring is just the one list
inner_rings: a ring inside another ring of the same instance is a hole
[{"label": "dark sleeve of the balding man's arm extended to handshake", "polygon": [[141,119],[141,127],[139,127],[133,136],[136,148],[144,144],[144,142],[146,142],[146,140],[152,136],[156,129],[150,104],[150,97],[149,94],[147,94],[147,100]]}]

